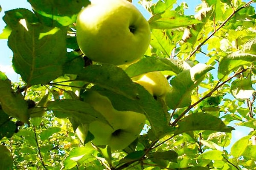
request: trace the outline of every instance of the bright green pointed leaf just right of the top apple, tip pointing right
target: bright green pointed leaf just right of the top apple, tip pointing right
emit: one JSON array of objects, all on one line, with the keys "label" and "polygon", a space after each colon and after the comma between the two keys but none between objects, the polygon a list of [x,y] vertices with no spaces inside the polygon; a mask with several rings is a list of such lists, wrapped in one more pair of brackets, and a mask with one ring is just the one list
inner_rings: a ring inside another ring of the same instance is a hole
[{"label": "bright green pointed leaf just right of the top apple, tip pointing right", "polygon": [[149,25],[154,29],[173,29],[202,23],[195,18],[180,15],[176,11],[164,11],[153,15],[149,20]]}]

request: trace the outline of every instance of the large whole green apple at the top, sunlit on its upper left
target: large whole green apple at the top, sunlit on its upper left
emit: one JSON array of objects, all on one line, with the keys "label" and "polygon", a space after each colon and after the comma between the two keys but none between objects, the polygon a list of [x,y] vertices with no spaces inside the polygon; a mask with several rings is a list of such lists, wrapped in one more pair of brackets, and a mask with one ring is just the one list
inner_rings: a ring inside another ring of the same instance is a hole
[{"label": "large whole green apple at the top, sunlit on its upper left", "polygon": [[99,63],[122,65],[140,59],[150,34],[148,21],[127,0],[91,0],[76,22],[79,48]]}]

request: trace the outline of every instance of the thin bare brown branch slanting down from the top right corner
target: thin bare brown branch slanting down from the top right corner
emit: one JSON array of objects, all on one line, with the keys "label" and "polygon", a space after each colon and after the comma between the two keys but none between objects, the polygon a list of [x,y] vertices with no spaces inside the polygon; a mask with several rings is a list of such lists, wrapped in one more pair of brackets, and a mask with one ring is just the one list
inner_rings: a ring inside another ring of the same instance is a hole
[{"label": "thin bare brown branch slanting down from the top right corner", "polygon": [[249,6],[251,3],[253,3],[253,0],[250,0],[248,3],[246,3],[244,6],[241,6],[239,9],[237,9],[236,11],[233,11],[232,14],[230,14],[229,17],[227,17],[227,19],[215,30],[212,32],[212,34],[210,34],[203,42],[201,42],[194,51],[192,51],[189,55],[189,57],[187,59],[190,59],[190,57],[192,57],[192,55],[194,55],[196,53],[196,51],[198,51],[201,46],[204,45],[205,42],[207,42],[218,30],[220,30],[223,26],[225,26],[225,24],[230,20],[231,17],[233,17],[234,14],[236,14],[238,11],[240,11],[243,8],[246,8],[247,6]]}]

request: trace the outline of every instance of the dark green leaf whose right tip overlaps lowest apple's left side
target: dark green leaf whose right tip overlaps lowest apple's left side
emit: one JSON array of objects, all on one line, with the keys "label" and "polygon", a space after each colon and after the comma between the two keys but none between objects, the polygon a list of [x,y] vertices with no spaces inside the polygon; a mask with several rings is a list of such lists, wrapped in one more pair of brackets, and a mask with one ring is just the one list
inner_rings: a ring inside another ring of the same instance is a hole
[{"label": "dark green leaf whose right tip overlaps lowest apple's left side", "polygon": [[97,112],[91,105],[79,100],[55,100],[49,102],[47,110],[52,111],[58,118],[73,118],[83,124],[89,124],[96,120],[108,123],[105,117]]}]

